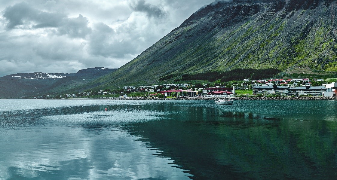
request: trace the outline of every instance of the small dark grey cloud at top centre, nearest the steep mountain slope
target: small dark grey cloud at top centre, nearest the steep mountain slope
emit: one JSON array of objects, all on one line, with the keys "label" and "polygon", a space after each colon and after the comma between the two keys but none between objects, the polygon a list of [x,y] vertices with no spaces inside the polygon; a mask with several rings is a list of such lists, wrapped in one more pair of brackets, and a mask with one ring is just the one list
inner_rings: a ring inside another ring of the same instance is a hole
[{"label": "small dark grey cloud at top centre, nearest the steep mountain slope", "polygon": [[161,18],[166,15],[166,12],[157,6],[146,3],[145,0],[138,0],[130,4],[134,11],[145,12],[148,17]]}]

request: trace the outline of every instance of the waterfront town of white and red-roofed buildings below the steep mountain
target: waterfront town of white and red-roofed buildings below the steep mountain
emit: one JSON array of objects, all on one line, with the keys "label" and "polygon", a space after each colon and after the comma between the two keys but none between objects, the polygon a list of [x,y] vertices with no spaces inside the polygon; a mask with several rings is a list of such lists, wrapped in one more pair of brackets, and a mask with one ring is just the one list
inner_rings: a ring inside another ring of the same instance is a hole
[{"label": "waterfront town of white and red-roofed buildings below the steep mountain", "polygon": [[[44,98],[104,98],[104,97],[280,97],[323,96],[337,94],[337,81],[333,79],[270,79],[232,81],[207,84],[163,84],[151,86],[124,86],[63,95],[47,95]],[[38,97],[35,97],[38,98]]]}]

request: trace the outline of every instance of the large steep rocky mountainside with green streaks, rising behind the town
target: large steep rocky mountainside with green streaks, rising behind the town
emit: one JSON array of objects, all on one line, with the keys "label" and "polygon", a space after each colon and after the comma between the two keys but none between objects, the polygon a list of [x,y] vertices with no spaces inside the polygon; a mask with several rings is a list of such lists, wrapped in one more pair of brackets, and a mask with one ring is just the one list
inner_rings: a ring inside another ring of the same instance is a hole
[{"label": "large steep rocky mountainside with green streaks, rising behind the town", "polygon": [[337,71],[336,12],[334,0],[217,0],[90,86],[150,84],[210,71]]}]

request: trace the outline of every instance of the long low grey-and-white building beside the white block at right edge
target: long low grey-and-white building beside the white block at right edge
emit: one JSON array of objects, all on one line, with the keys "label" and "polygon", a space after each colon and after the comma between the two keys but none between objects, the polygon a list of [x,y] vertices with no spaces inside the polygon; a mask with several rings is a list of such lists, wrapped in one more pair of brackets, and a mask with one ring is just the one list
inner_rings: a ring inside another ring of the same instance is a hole
[{"label": "long low grey-and-white building beside the white block at right edge", "polygon": [[313,95],[321,96],[323,92],[326,92],[327,88],[325,86],[299,86],[289,88],[288,95]]}]

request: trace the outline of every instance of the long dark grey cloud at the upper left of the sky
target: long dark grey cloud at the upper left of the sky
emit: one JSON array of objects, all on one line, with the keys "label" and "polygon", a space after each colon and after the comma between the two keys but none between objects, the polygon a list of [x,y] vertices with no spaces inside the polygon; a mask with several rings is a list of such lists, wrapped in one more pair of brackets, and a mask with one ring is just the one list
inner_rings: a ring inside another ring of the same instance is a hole
[{"label": "long dark grey cloud at the upper left of the sky", "polygon": [[77,18],[67,18],[62,13],[34,9],[25,2],[7,7],[3,17],[8,21],[8,29],[57,28],[60,35],[82,38],[91,32],[91,28],[87,26],[88,19],[81,14]]}]

